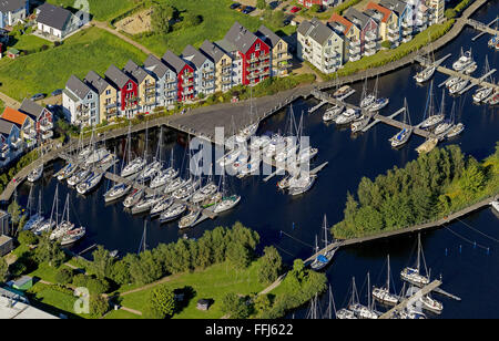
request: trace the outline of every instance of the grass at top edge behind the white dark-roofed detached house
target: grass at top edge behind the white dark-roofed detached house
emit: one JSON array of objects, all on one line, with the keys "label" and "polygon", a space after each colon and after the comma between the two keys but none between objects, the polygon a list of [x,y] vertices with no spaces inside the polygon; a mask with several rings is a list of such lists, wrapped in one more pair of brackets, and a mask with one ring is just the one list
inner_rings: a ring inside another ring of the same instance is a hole
[{"label": "grass at top edge behind the white dark-roofed detached house", "polygon": [[[133,0],[88,0],[89,10],[93,19],[98,21],[108,21],[119,14],[130,10],[134,6]],[[74,0],[48,0],[47,2],[71,8],[74,6]]]}]

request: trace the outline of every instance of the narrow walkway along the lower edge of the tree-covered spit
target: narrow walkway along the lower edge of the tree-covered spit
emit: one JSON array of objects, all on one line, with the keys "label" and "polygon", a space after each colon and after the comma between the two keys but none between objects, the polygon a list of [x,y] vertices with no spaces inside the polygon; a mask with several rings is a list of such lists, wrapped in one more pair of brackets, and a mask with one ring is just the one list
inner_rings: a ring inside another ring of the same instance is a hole
[{"label": "narrow walkway along the lower edge of the tree-covered spit", "polygon": [[313,261],[314,259],[316,259],[318,255],[323,255],[326,251],[329,251],[332,249],[336,249],[339,247],[358,245],[358,244],[368,242],[368,241],[373,241],[373,240],[390,238],[390,237],[398,236],[398,235],[418,232],[418,231],[430,229],[430,228],[442,227],[442,226],[451,223],[455,219],[461,218],[475,210],[478,210],[478,209],[489,206],[491,202],[497,200],[498,198],[499,198],[499,194],[496,194],[495,196],[491,196],[489,198],[480,200],[467,208],[455,211],[455,213],[450,214],[449,216],[438,219],[436,221],[428,221],[428,223],[424,223],[424,224],[419,224],[419,225],[415,225],[411,227],[406,227],[406,228],[401,228],[401,229],[397,229],[397,230],[393,230],[393,231],[379,232],[379,234],[376,234],[373,236],[338,240],[338,241],[329,244],[326,248],[324,248],[324,249],[319,250],[318,252],[316,252],[315,255],[310,256],[309,258],[307,258],[305,260],[305,262],[308,264],[308,262]]}]

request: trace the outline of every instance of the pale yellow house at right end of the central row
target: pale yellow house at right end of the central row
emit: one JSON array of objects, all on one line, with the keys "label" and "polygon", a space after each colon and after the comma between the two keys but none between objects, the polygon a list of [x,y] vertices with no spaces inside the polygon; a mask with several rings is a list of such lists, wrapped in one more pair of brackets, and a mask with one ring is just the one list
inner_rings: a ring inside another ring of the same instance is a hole
[{"label": "pale yellow house at right end of the central row", "polygon": [[285,76],[288,74],[292,68],[291,60],[293,56],[289,53],[288,43],[275,34],[272,30],[265,25],[261,25],[258,31],[255,33],[259,39],[262,39],[268,46],[271,46],[271,71],[272,76]]}]

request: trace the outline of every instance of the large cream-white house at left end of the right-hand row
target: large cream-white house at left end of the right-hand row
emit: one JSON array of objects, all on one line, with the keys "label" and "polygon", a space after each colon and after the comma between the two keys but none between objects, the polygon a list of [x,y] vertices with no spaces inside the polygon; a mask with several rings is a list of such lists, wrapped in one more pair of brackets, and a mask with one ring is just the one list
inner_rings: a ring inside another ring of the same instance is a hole
[{"label": "large cream-white house at left end of the right-hand row", "polygon": [[297,30],[297,56],[324,73],[337,71],[344,61],[345,39],[317,19],[303,21]]}]

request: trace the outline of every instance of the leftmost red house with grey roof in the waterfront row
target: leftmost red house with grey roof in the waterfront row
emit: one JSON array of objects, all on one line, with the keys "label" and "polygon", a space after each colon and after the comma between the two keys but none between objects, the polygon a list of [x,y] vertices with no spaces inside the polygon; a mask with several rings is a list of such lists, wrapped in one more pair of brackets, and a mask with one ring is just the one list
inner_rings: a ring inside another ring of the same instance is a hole
[{"label": "leftmost red house with grey roof in the waterfront row", "polygon": [[132,118],[139,112],[139,84],[115,65],[105,71],[105,80],[116,90],[120,116]]}]

